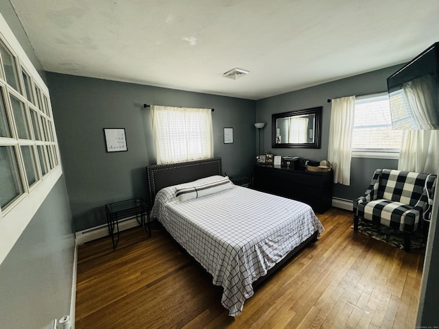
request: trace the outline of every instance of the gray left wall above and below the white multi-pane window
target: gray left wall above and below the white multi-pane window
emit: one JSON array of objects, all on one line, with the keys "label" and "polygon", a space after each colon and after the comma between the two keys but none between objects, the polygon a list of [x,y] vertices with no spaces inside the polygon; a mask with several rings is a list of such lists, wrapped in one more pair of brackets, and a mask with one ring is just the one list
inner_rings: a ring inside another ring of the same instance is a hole
[{"label": "gray left wall above and below the white multi-pane window", "polygon": [[[0,12],[45,80],[9,1]],[[64,175],[0,265],[0,328],[53,328],[70,313],[75,241]]]}]

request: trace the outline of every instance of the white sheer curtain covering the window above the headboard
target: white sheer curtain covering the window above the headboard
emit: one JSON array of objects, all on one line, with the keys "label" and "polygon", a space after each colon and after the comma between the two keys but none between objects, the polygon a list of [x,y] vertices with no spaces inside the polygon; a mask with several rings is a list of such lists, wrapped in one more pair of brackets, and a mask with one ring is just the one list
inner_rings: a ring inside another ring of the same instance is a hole
[{"label": "white sheer curtain covering the window above the headboard", "polygon": [[213,158],[212,110],[151,106],[157,164]]}]

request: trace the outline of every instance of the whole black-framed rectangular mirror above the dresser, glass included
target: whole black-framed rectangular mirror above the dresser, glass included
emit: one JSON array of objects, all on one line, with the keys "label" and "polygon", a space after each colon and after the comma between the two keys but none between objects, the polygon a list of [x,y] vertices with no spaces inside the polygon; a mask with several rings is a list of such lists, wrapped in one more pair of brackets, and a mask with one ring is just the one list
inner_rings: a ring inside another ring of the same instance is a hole
[{"label": "whole black-framed rectangular mirror above the dresser, glass included", "polygon": [[272,114],[272,147],[320,149],[322,106]]}]

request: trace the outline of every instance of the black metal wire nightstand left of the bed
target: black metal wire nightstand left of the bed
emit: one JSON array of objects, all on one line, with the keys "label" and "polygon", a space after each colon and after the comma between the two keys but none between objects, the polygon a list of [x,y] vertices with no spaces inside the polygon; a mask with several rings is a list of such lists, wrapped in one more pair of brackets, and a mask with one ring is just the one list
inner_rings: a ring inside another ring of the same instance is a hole
[{"label": "black metal wire nightstand left of the bed", "polygon": [[[140,197],[137,197],[136,199],[113,202],[112,204],[106,204],[105,211],[107,215],[108,233],[111,236],[113,250],[116,249],[117,243],[119,243],[119,219],[135,215],[137,221],[143,227],[143,230],[145,230],[145,232],[151,236],[150,210],[148,204]],[[116,241],[115,233],[117,233]]]}]

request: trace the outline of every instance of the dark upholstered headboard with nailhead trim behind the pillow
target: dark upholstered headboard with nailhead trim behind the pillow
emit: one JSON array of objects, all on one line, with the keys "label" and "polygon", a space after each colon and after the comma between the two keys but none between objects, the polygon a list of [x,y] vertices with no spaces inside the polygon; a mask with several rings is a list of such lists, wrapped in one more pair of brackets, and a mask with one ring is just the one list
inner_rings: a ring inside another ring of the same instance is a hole
[{"label": "dark upholstered headboard with nailhead trim behind the pillow", "polygon": [[192,182],[212,175],[222,175],[221,158],[196,160],[171,164],[153,164],[146,167],[150,206],[154,204],[156,193],[161,188]]}]

